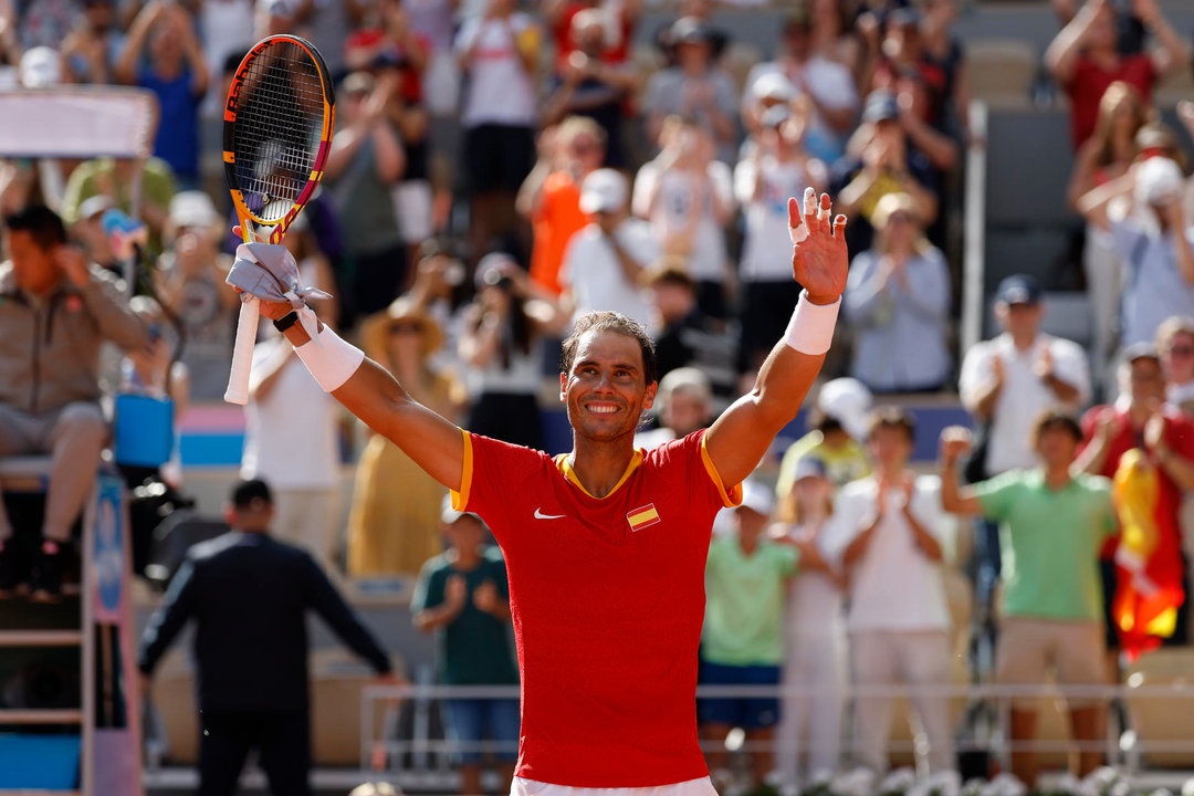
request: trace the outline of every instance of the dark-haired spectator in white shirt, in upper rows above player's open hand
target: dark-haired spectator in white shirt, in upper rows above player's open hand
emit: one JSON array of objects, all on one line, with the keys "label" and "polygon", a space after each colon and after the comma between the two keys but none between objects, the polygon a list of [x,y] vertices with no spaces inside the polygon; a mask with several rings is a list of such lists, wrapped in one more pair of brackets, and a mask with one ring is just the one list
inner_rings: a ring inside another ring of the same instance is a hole
[{"label": "dark-haired spectator in white shirt, in upper rows above player's open hand", "polygon": [[747,129],[753,128],[759,118],[758,81],[769,74],[784,75],[811,107],[805,147],[813,158],[832,163],[845,153],[845,141],[855,128],[858,92],[849,67],[813,47],[812,26],[812,18],[804,11],[788,17],[778,60],[757,63],[746,75],[743,117]]}]

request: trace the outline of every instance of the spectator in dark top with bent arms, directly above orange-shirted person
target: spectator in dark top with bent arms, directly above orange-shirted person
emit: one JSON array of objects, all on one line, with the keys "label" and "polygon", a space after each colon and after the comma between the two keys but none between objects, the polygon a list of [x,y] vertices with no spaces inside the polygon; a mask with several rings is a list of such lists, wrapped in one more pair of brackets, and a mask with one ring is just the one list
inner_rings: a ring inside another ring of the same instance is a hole
[{"label": "spectator in dark top with bent arms, directly above orange-shirted person", "polygon": [[639,75],[624,61],[607,62],[608,32],[602,11],[586,8],[572,17],[576,49],[560,68],[552,94],[543,109],[544,124],[555,124],[570,115],[593,119],[605,132],[605,160],[610,168],[626,168],[628,158],[622,143],[622,117],[630,95],[639,87]]}]

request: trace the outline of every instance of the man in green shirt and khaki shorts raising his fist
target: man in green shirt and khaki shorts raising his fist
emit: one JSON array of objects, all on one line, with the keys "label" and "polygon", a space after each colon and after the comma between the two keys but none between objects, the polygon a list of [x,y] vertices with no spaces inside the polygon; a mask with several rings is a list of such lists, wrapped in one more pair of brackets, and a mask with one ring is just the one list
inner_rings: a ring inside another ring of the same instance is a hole
[{"label": "man in green shirt and khaki shorts raising his fist", "polygon": [[[947,512],[979,514],[999,523],[1002,556],[999,646],[996,680],[1035,685],[1054,668],[1063,685],[1104,685],[1106,641],[1098,553],[1116,527],[1110,482],[1071,474],[1082,443],[1077,418],[1048,411],[1033,428],[1041,467],[1011,470],[961,488],[958,462],[971,448],[970,432],[941,432],[941,502]],[[1084,747],[1081,771],[1101,765],[1103,709],[1098,701],[1069,699],[1073,738]],[[1013,743],[1036,730],[1036,699],[1014,699]],[[1036,779],[1032,752],[1013,752],[1013,772],[1029,788]]]}]

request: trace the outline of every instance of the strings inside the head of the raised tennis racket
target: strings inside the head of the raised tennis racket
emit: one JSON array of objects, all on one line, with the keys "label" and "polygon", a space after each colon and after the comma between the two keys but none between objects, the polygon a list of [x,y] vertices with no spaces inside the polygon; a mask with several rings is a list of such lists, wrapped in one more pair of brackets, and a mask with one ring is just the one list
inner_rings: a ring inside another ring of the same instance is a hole
[{"label": "strings inside the head of the raised tennis racket", "polygon": [[279,42],[250,64],[233,147],[245,202],[264,221],[283,218],[309,181],[324,109],[319,68],[297,44]]}]

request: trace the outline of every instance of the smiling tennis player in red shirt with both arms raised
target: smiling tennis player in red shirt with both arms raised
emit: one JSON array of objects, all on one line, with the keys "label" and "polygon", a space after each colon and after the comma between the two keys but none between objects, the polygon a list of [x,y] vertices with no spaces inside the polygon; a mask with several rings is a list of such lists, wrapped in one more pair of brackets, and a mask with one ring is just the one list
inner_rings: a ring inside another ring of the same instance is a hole
[{"label": "smiling tennis player in red shirt with both arms raised", "polygon": [[522,674],[516,796],[716,792],[694,699],[713,518],[741,500],[740,482],[795,418],[847,279],[845,217],[829,196],[810,189],[788,212],[805,290],[755,389],[708,431],[650,452],[633,440],[656,396],[654,346],[622,315],[589,313],[564,343],[573,448],[552,458],[462,431],[331,329],[312,341],[290,304],[261,302],[320,384],[501,545]]}]

